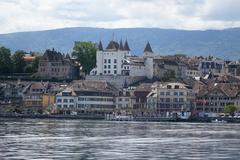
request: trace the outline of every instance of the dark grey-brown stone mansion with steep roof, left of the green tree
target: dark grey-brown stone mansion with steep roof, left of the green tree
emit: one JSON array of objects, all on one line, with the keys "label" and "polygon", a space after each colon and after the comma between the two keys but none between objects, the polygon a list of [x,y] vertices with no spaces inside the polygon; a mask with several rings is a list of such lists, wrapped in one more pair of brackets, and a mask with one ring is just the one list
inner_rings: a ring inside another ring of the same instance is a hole
[{"label": "dark grey-brown stone mansion with steep roof, left of the green tree", "polygon": [[67,54],[64,56],[60,52],[46,50],[39,60],[38,73],[44,79],[78,79],[80,65]]}]

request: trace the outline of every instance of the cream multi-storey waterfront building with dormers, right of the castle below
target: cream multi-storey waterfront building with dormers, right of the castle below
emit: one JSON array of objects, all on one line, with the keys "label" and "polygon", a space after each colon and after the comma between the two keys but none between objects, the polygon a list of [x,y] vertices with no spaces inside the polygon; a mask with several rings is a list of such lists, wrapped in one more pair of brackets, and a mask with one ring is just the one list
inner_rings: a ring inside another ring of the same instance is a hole
[{"label": "cream multi-storey waterfront building with dormers, right of the castle below", "polygon": [[191,86],[178,82],[156,82],[147,96],[147,107],[158,115],[167,112],[191,111],[194,109],[195,92]]}]

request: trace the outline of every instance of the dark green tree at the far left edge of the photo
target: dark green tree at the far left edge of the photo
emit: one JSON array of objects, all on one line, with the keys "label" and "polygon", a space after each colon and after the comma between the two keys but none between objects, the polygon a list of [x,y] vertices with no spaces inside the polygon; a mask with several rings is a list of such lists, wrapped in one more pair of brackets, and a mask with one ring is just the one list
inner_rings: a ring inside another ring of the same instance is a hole
[{"label": "dark green tree at the far left edge of the photo", "polygon": [[0,47],[0,75],[12,73],[11,52],[8,48]]}]

